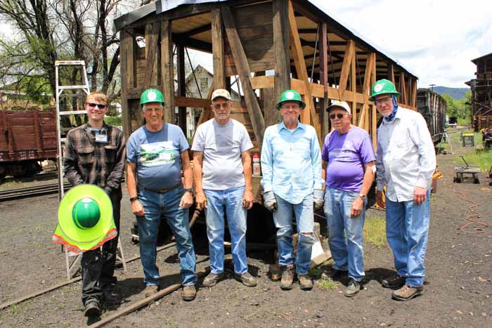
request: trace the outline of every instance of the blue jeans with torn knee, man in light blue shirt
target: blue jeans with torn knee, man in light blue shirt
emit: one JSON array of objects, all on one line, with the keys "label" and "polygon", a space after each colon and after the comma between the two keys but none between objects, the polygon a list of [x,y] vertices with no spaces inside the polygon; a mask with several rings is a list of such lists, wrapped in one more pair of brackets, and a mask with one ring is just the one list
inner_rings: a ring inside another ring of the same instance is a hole
[{"label": "blue jeans with torn knee, man in light blue shirt", "polygon": [[[311,249],[314,244],[313,195],[309,194],[299,204],[290,204],[278,195],[277,210],[273,212],[273,221],[277,230],[278,264],[292,265],[294,245],[292,244],[292,216],[295,216],[299,242],[295,268],[297,275],[306,275],[311,263]],[[309,235],[304,235],[307,232]]]}]

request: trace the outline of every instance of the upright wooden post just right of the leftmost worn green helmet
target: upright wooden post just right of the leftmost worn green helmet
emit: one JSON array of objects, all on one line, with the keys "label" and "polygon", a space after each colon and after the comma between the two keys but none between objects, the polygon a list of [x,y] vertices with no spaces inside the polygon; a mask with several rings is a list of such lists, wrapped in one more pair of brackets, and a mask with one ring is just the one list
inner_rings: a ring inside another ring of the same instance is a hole
[{"label": "upright wooden post just right of the leftmost worn green helmet", "polygon": [[164,93],[164,101],[166,102],[164,110],[164,121],[176,124],[174,114],[174,63],[171,39],[171,22],[162,20],[161,22],[161,74],[162,74],[162,91]]}]

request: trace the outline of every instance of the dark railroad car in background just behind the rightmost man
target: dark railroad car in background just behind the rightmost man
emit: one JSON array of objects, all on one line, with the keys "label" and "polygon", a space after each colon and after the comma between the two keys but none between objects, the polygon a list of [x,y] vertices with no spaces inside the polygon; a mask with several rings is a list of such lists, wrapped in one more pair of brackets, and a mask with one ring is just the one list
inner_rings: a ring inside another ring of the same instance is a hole
[{"label": "dark railroad car in background just behind the rightmost man", "polygon": [[427,121],[434,144],[441,142],[446,128],[446,100],[428,88],[417,89],[417,110]]}]

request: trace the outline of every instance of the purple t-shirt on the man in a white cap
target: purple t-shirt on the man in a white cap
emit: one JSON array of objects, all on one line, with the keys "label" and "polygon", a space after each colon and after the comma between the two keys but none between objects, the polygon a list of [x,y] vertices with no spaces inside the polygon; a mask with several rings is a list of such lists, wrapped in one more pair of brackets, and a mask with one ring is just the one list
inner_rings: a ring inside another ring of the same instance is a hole
[{"label": "purple t-shirt on the man in a white cap", "polygon": [[328,133],[321,158],[328,162],[326,185],[349,192],[361,191],[364,165],[376,159],[369,133],[357,126],[344,134]]}]

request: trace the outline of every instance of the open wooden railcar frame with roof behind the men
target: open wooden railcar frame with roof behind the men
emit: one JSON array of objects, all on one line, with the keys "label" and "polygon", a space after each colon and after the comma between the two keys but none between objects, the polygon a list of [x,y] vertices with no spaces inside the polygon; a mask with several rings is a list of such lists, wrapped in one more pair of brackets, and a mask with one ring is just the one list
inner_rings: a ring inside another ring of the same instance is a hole
[{"label": "open wooden railcar frame with roof behind the men", "polygon": [[[231,89],[231,77],[239,79],[243,93],[232,117],[246,125],[256,147],[266,126],[280,122],[275,104],[288,88],[302,94],[307,107],[301,120],[316,127],[320,141],[329,131],[325,108],[330,100],[344,100],[353,123],[375,143],[377,113],[368,97],[377,79],[394,81],[401,105],[416,110],[417,77],[311,0],[158,0],[120,16],[115,28],[127,135],[138,127],[138,99],[145,88],[162,91],[165,120],[181,126],[186,107],[205,109],[200,122],[212,118],[209,97],[213,89]],[[213,54],[208,98],[186,96],[186,48]]]}]

